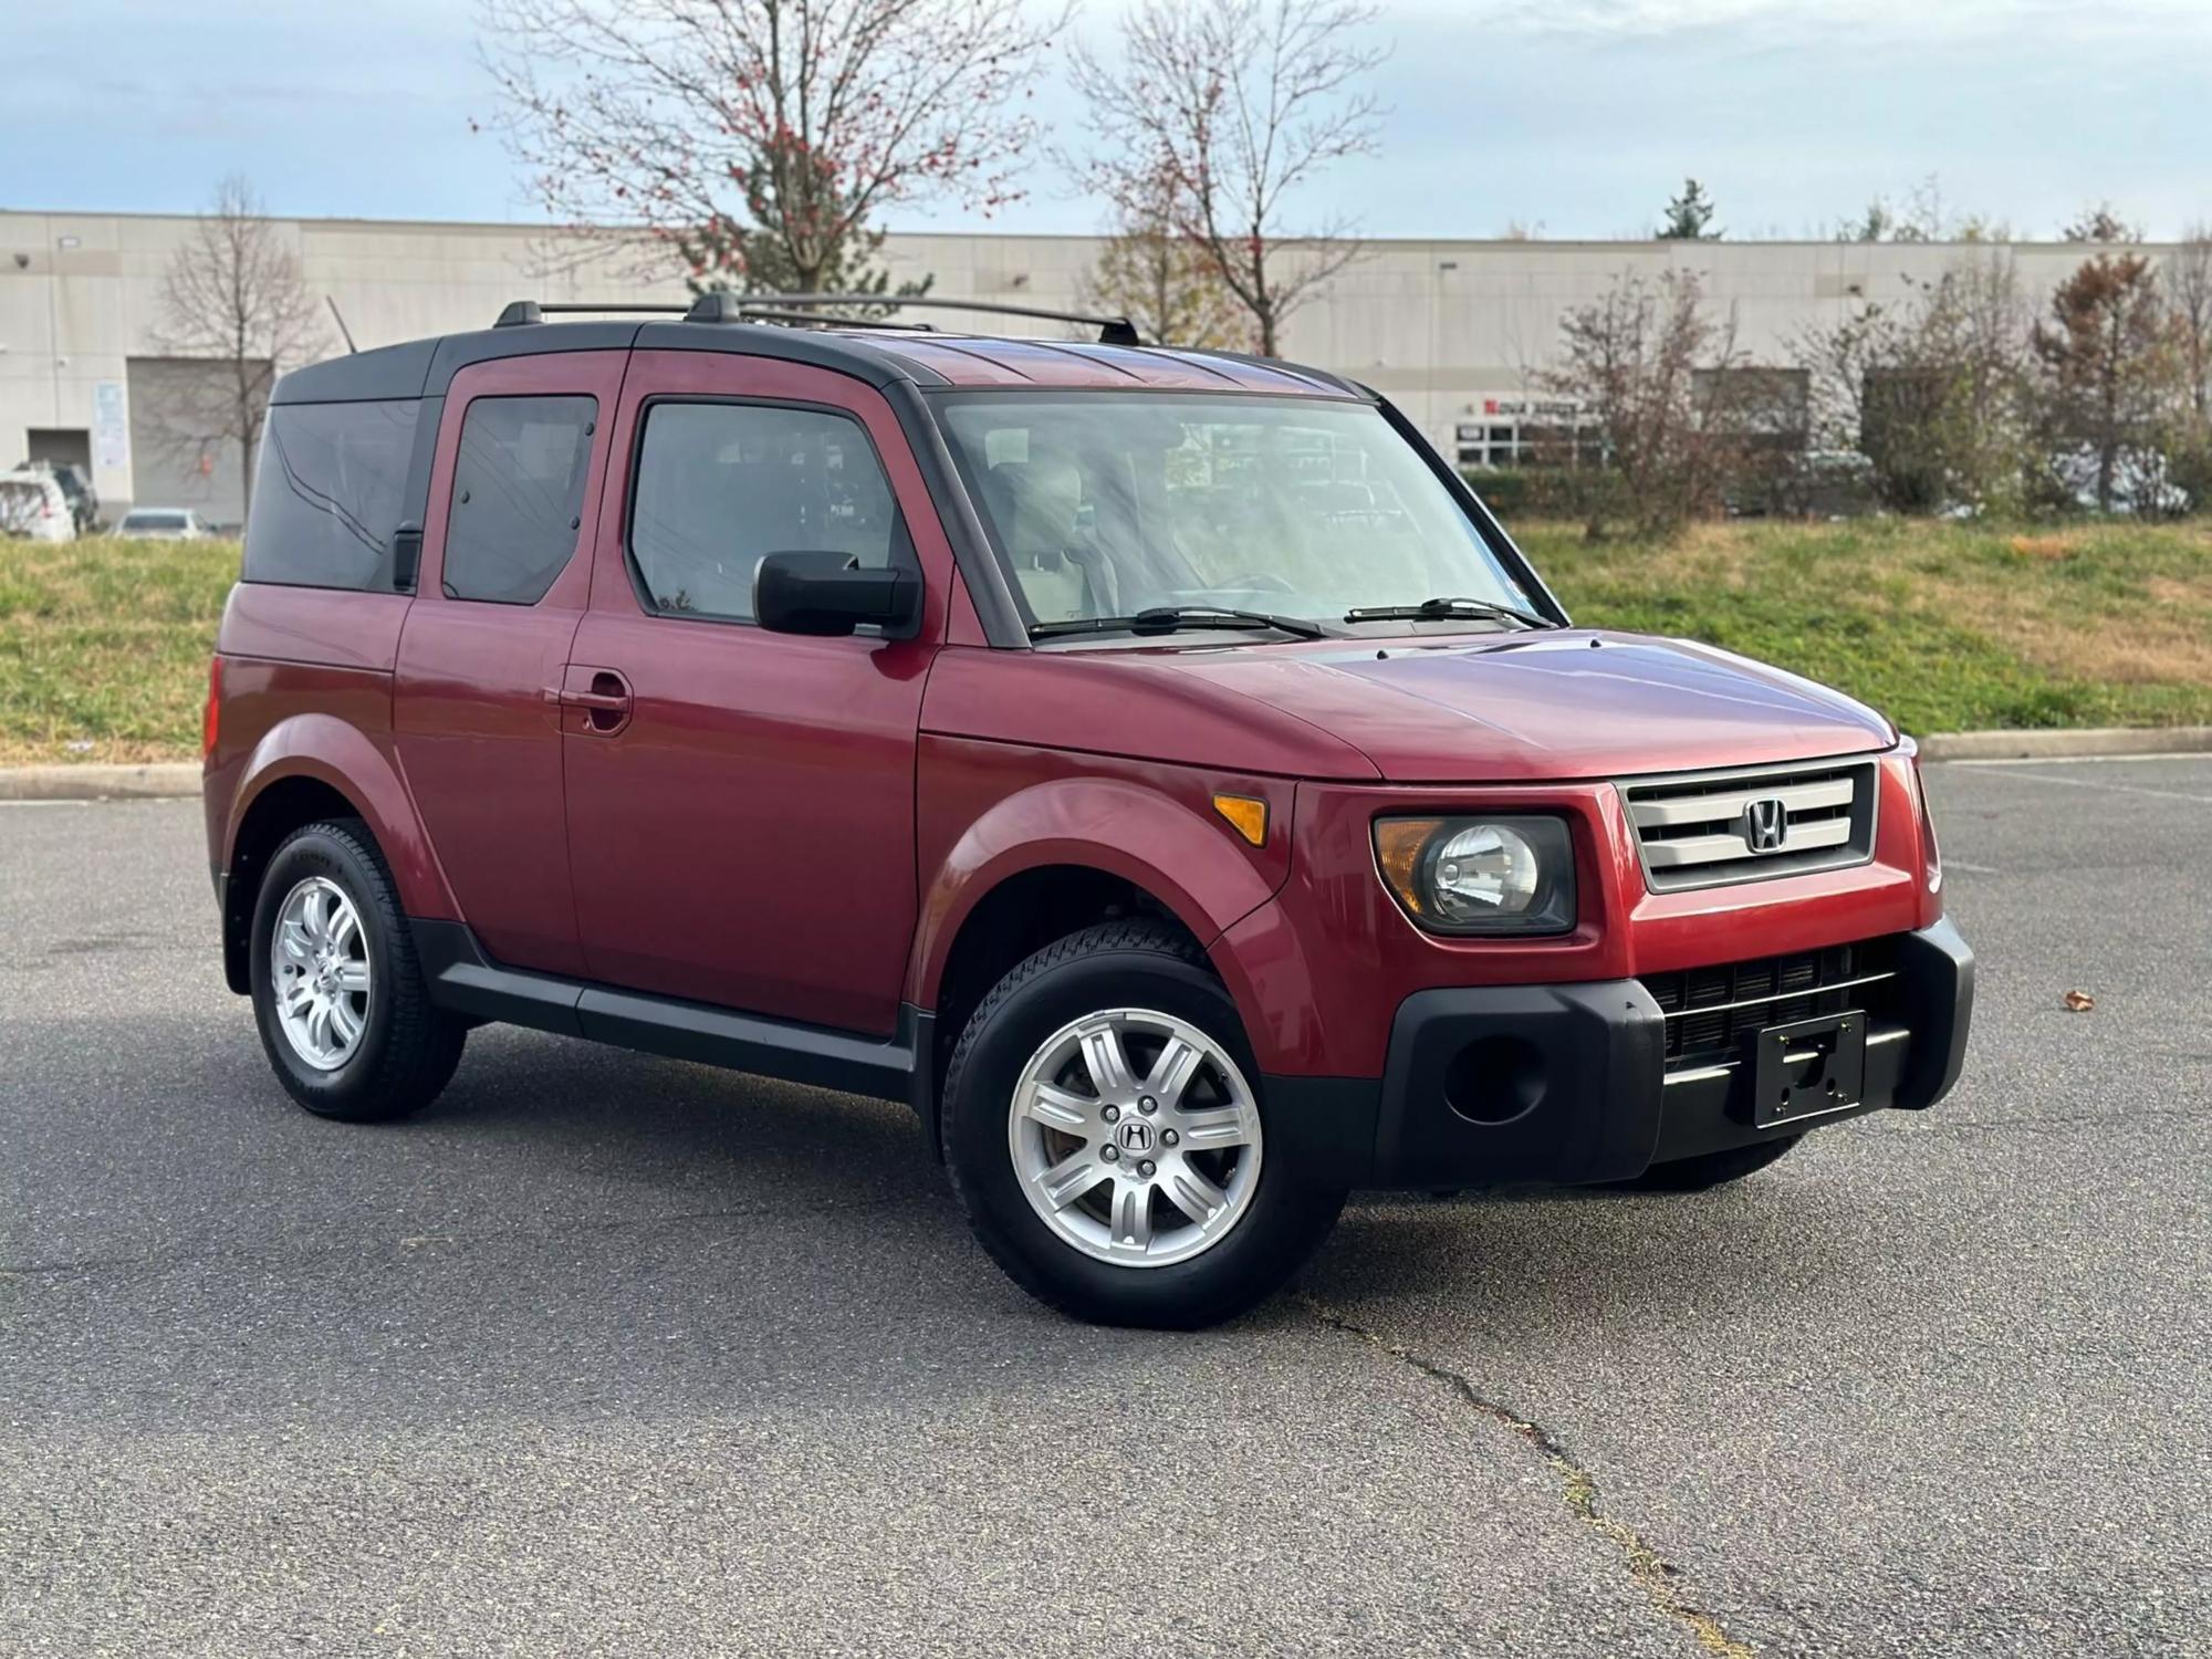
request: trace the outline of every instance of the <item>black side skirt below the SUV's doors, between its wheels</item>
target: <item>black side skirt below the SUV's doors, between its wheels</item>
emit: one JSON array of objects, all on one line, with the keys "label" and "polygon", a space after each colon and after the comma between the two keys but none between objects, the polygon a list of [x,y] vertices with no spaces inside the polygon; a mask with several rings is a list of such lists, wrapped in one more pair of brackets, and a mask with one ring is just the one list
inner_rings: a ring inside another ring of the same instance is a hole
[{"label": "black side skirt below the SUV's doors, between its wheels", "polygon": [[841,1088],[847,1095],[902,1099],[933,1121],[931,1026],[936,1015],[898,1006],[898,1029],[885,1037],[734,1013],[708,1002],[617,991],[557,973],[495,964],[465,922],[409,920],[416,958],[440,1009],[471,1020],[555,1031],[611,1042],[670,1060],[750,1071],[792,1084]]}]

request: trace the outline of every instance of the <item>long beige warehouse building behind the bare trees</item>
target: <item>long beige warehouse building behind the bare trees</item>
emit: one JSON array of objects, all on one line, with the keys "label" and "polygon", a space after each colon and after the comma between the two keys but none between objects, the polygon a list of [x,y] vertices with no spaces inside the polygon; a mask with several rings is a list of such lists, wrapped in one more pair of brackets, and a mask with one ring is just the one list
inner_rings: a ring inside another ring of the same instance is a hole
[{"label": "long beige warehouse building behind the bare trees", "polygon": [[[557,259],[529,226],[279,219],[314,296],[363,347],[484,327],[511,299],[679,301],[679,281],[639,283]],[[170,376],[155,334],[161,276],[192,221],[161,215],[0,212],[0,469],[24,458],[86,465],[113,518],[131,502],[239,518],[237,451],[181,440],[164,422]],[[1075,307],[1099,252],[1091,237],[894,234],[894,279],[938,294]],[[1467,465],[1511,460],[1526,392],[1559,314],[1624,270],[1703,274],[1732,307],[1754,361],[1787,361],[1812,323],[1858,299],[1900,299],[1962,250],[1947,243],[1374,241],[1285,332],[1285,356],[1391,396]],[[1986,254],[1986,248],[1971,250]],[[2008,250],[2031,294],[2079,259],[2066,243]],[[2152,250],[2159,252],[2159,250]],[[938,319],[958,325],[960,316]],[[1053,325],[971,319],[984,327]],[[341,352],[338,330],[327,352]]]}]

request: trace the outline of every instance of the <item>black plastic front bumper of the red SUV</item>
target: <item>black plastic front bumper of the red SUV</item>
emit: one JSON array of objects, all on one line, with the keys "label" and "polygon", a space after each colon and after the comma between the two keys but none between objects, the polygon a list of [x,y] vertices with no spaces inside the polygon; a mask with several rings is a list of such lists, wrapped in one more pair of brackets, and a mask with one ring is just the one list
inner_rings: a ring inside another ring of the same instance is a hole
[{"label": "black plastic front bumper of the red SUV", "polygon": [[1624,1181],[1652,1164],[1898,1106],[1958,1082],[1973,951],[1951,922],[1893,940],[1858,1104],[1759,1128],[1750,1053],[1668,1060],[1641,980],[1451,987],[1398,1006],[1374,1077],[1267,1077],[1270,1157],[1360,1188]]}]

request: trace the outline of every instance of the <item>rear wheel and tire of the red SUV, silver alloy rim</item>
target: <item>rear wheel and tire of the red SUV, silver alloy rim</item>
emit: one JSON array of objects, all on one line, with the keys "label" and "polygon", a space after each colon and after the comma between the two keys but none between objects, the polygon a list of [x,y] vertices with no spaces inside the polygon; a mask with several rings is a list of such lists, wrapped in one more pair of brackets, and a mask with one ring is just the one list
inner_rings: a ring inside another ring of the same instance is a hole
[{"label": "rear wheel and tire of the red SUV, silver alloy rim", "polygon": [[451,1082],[469,1035],[431,1004],[392,872],[349,818],[296,830],[270,858],[250,984],[270,1068],[316,1117],[407,1117]]}]

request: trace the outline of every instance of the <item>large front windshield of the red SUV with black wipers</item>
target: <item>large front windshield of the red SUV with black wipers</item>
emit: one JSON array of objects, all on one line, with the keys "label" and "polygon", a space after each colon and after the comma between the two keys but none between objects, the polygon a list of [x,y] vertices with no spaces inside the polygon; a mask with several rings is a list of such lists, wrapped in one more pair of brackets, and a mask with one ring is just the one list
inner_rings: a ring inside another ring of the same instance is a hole
[{"label": "large front windshield of the red SUV with black wipers", "polygon": [[938,416],[1031,626],[1161,606],[1334,624],[1440,595],[1531,608],[1365,403],[945,394]]}]

